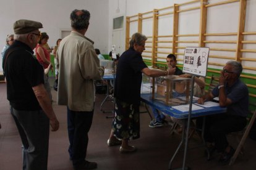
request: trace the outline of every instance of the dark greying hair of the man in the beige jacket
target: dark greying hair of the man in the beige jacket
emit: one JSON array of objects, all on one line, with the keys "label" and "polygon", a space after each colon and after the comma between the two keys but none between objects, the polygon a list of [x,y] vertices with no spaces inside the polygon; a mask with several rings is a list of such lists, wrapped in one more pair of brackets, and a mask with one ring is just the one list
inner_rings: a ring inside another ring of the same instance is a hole
[{"label": "dark greying hair of the man in the beige jacket", "polygon": [[75,9],[70,14],[71,26],[75,30],[87,29],[89,26],[90,12],[88,10]]}]

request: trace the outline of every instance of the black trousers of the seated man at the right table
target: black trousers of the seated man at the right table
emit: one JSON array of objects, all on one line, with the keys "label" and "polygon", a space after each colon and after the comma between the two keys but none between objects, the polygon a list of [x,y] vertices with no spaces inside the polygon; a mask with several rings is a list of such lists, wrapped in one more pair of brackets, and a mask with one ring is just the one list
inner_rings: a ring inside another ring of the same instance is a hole
[{"label": "black trousers of the seated man at the right table", "polygon": [[[202,128],[203,118],[197,118],[197,127]],[[228,147],[226,135],[241,131],[247,124],[245,117],[228,115],[226,113],[207,116],[205,119],[205,140],[214,142],[218,152],[224,152]]]}]

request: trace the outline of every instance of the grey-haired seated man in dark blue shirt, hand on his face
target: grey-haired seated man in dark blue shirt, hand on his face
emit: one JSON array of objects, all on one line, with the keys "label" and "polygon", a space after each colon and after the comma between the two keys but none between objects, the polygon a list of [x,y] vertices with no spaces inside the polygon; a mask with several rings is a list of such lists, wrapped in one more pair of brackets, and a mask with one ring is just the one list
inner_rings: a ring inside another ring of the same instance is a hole
[{"label": "grey-haired seated man in dark blue shirt, hand on his face", "polygon": [[[211,151],[221,153],[219,162],[227,164],[234,154],[226,139],[230,132],[241,131],[247,124],[249,113],[249,91],[240,80],[242,65],[236,61],[229,61],[221,71],[219,85],[209,94],[198,99],[203,104],[206,100],[219,97],[220,107],[227,107],[226,113],[207,116],[205,122],[205,140],[211,143]],[[197,125],[202,125],[198,119]]]}]

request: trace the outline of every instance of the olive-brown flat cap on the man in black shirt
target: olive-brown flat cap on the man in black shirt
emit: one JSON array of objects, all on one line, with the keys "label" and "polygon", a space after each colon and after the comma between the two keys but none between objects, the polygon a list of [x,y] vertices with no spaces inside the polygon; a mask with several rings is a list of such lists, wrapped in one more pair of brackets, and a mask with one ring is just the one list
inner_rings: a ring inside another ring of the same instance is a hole
[{"label": "olive-brown flat cap on the man in black shirt", "polygon": [[43,25],[40,22],[32,20],[17,20],[14,22],[15,34],[26,34],[38,30],[39,28],[43,28]]}]

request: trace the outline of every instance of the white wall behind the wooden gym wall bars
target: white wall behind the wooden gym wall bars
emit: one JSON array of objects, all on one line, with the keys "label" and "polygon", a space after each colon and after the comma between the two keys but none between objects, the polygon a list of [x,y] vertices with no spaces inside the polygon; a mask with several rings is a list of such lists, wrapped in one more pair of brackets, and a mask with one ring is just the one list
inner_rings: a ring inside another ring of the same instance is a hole
[{"label": "white wall behind the wooden gym wall bars", "polygon": [[[119,9],[120,12],[116,13],[117,2],[119,1]],[[149,12],[153,9],[161,9],[168,6],[173,6],[173,4],[182,4],[184,2],[189,2],[190,0],[109,0],[109,9],[113,7],[113,9],[109,10],[109,44],[112,42],[112,20],[116,15],[126,15],[132,16],[137,15],[139,13]],[[215,2],[221,2],[223,0],[208,0],[210,4]],[[197,4],[187,4],[186,6],[181,6],[180,9],[187,9],[190,7],[198,7]],[[236,33],[238,28],[238,13],[239,13],[239,2],[233,2],[229,4],[224,4],[220,6],[208,7],[208,15],[207,15],[207,33]],[[246,32],[256,32],[256,1],[255,0],[247,0],[247,10],[246,10],[246,22],[245,22],[245,31]],[[159,20],[158,26],[158,34],[160,35],[168,35],[172,34],[173,27],[173,19],[168,18],[167,15],[165,17],[166,21]],[[182,12],[179,14],[179,34],[198,34],[199,24],[200,24],[200,10],[190,10],[187,12]],[[152,35],[152,19],[143,20],[142,22],[142,33],[146,36]],[[124,28],[126,28],[124,26]],[[137,32],[137,22],[130,23],[130,36]],[[124,37],[125,32],[124,32]],[[256,35],[245,36],[245,40],[256,41]],[[179,40],[182,40],[180,38]],[[186,40],[198,40],[190,39]],[[231,40],[237,41],[237,36],[225,36],[224,39],[216,39],[216,36],[208,36],[207,40]],[[125,42],[124,42],[125,43]],[[179,46],[191,46],[191,44],[179,44]],[[196,46],[193,44],[193,46]],[[236,44],[207,44],[210,47],[216,48],[230,48],[236,49]],[[244,44],[244,49],[256,49],[256,44]],[[150,49],[149,49],[150,50]],[[147,49],[146,49],[147,51]],[[184,50],[183,50],[184,51]],[[181,49],[178,52],[182,52]],[[143,53],[145,54],[145,53]],[[145,54],[147,55],[147,54]],[[221,52],[221,51],[211,51],[210,55],[224,55],[234,57],[234,52]],[[255,53],[247,53],[244,52],[243,57],[249,57],[255,59]],[[182,55],[177,56],[179,59],[183,59]],[[226,63],[225,59],[209,59],[209,62],[217,62],[217,63]],[[247,67],[255,67],[255,62],[246,62],[242,61],[242,64]],[[210,65],[211,68],[220,68],[215,67],[214,65]],[[256,71],[252,70],[244,70],[248,73],[256,73]]]}]

